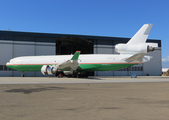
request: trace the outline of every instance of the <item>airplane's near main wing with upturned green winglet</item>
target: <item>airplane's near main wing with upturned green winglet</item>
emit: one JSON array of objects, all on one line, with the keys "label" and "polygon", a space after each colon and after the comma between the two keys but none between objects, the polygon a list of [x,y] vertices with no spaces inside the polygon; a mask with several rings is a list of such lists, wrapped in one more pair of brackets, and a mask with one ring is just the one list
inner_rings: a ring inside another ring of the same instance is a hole
[{"label": "airplane's near main wing with upturned green winglet", "polygon": [[79,63],[78,63],[79,55],[80,55],[80,51],[76,51],[70,60],[67,60],[64,63],[59,64],[58,68],[59,69],[66,69],[66,70],[70,70],[70,71],[76,70],[79,66]]}]

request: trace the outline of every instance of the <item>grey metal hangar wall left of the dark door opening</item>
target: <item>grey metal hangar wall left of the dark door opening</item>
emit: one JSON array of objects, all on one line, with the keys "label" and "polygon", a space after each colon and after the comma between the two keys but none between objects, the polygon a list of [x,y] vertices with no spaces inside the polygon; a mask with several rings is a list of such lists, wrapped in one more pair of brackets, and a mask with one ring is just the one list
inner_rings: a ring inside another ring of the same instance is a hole
[{"label": "grey metal hangar wall left of the dark door opening", "polygon": [[[3,36],[2,36],[3,38]],[[2,39],[1,38],[1,39]],[[43,39],[43,40],[42,40]],[[42,42],[45,41],[45,42]],[[53,41],[53,42],[46,42]],[[29,36],[13,36],[8,40],[0,40],[0,65],[5,64],[14,57],[55,55],[55,39]],[[26,72],[26,76],[43,76],[41,72]],[[19,71],[11,71],[8,68],[0,70],[0,76],[21,76]]]}]

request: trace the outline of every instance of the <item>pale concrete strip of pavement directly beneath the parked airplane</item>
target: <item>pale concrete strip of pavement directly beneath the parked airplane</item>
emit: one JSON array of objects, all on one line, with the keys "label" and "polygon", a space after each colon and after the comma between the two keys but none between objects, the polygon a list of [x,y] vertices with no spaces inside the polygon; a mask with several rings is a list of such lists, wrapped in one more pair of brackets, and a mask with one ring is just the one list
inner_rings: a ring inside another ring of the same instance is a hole
[{"label": "pale concrete strip of pavement directly beneath the parked airplane", "polygon": [[52,84],[52,83],[119,83],[119,82],[168,82],[169,77],[162,76],[114,76],[89,78],[57,77],[0,77],[0,84]]}]

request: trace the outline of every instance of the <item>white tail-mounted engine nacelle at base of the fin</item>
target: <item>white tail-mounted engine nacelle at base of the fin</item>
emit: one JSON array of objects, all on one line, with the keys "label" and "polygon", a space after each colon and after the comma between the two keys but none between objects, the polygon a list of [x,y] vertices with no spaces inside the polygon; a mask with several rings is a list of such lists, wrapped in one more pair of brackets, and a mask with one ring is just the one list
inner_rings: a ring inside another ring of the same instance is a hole
[{"label": "white tail-mounted engine nacelle at base of the fin", "polygon": [[117,44],[115,50],[118,53],[147,53],[154,51],[154,48],[147,44]]}]

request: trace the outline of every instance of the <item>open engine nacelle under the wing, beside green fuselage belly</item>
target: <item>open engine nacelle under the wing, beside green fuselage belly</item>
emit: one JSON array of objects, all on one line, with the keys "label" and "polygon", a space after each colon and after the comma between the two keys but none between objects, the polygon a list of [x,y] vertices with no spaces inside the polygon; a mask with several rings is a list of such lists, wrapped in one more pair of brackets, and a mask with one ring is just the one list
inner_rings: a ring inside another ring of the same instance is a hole
[{"label": "open engine nacelle under the wing, beside green fuselage belly", "polygon": [[58,71],[58,66],[43,65],[41,68],[41,73],[44,75],[53,75]]}]

